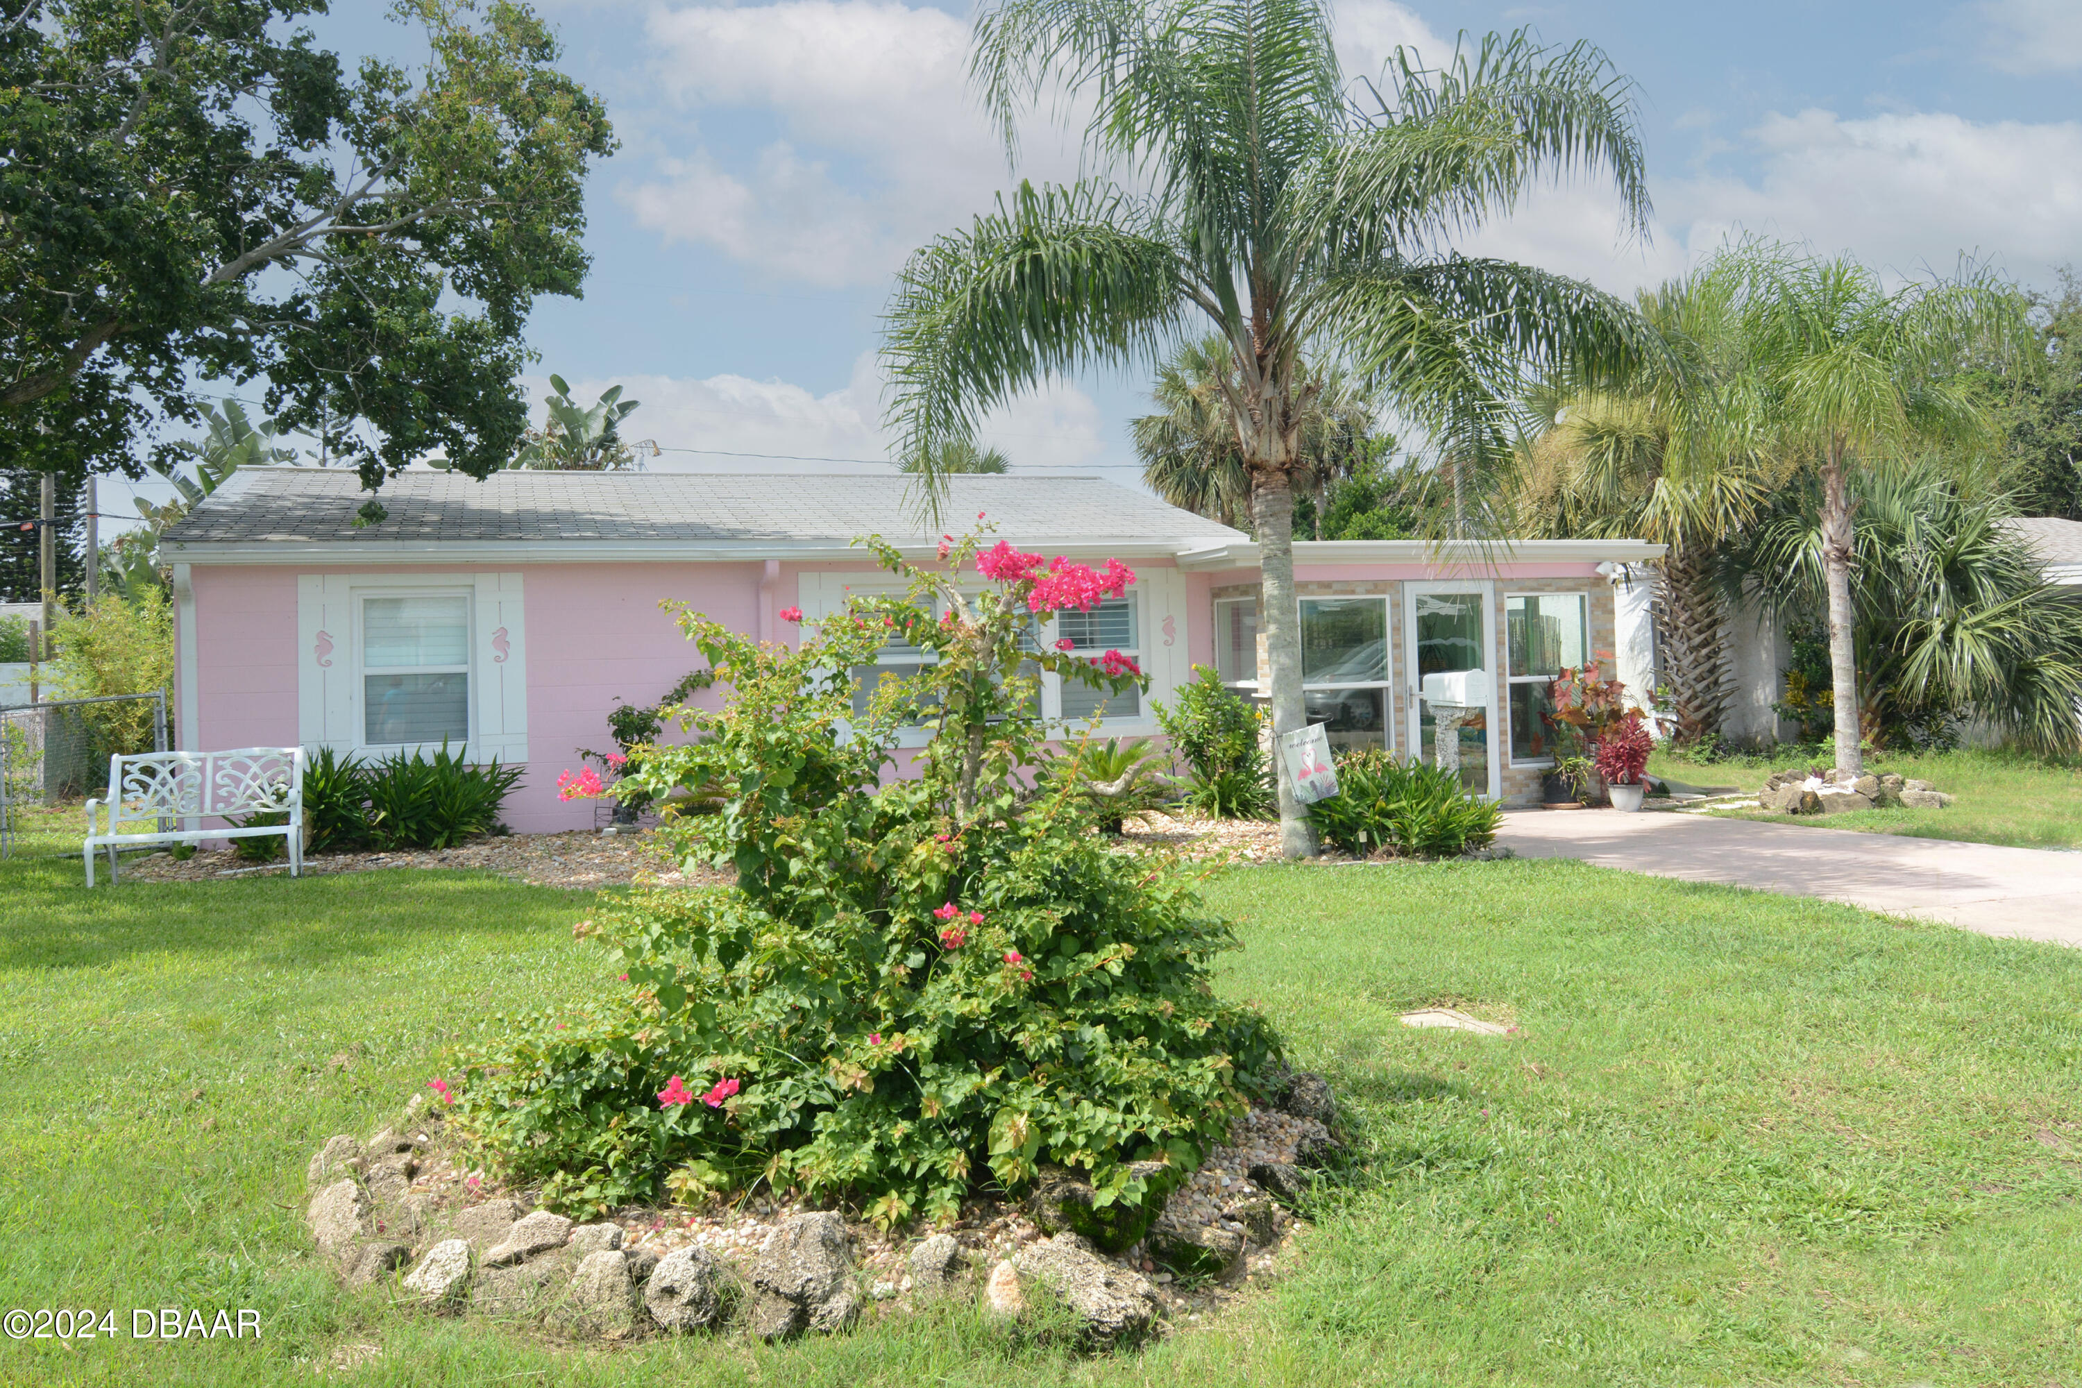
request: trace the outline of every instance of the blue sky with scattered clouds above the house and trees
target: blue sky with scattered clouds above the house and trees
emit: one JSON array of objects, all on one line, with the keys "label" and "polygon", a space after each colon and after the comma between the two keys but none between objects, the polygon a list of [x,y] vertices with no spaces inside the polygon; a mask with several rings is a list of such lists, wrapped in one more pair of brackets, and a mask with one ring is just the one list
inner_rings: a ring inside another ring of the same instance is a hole
[{"label": "blue sky with scattered clouds above the house and trees", "polygon": [[[623,150],[591,177],[585,300],[545,300],[537,370],[583,395],[627,383],[652,466],[799,468],[743,454],[883,458],[879,314],[904,256],[1008,185],[962,89],[968,10],[902,0],[541,0],[566,67]],[[344,54],[408,56],[375,0],[321,21]],[[1639,83],[1655,227],[1622,241],[1580,185],[1532,198],[1466,250],[1626,291],[1732,229],[1851,250],[1893,273],[1961,252],[2024,283],[2082,262],[2082,0],[1922,4],[1345,2],[1353,75],[1397,42],[1530,25],[1591,40]],[[1045,125],[1022,173],[1066,177]],[[543,383],[531,381],[539,402]],[[1131,481],[1133,379],[1053,383],[993,416],[1016,466]],[[539,404],[537,404],[539,410]],[[729,452],[735,449],[737,456]]]}]

